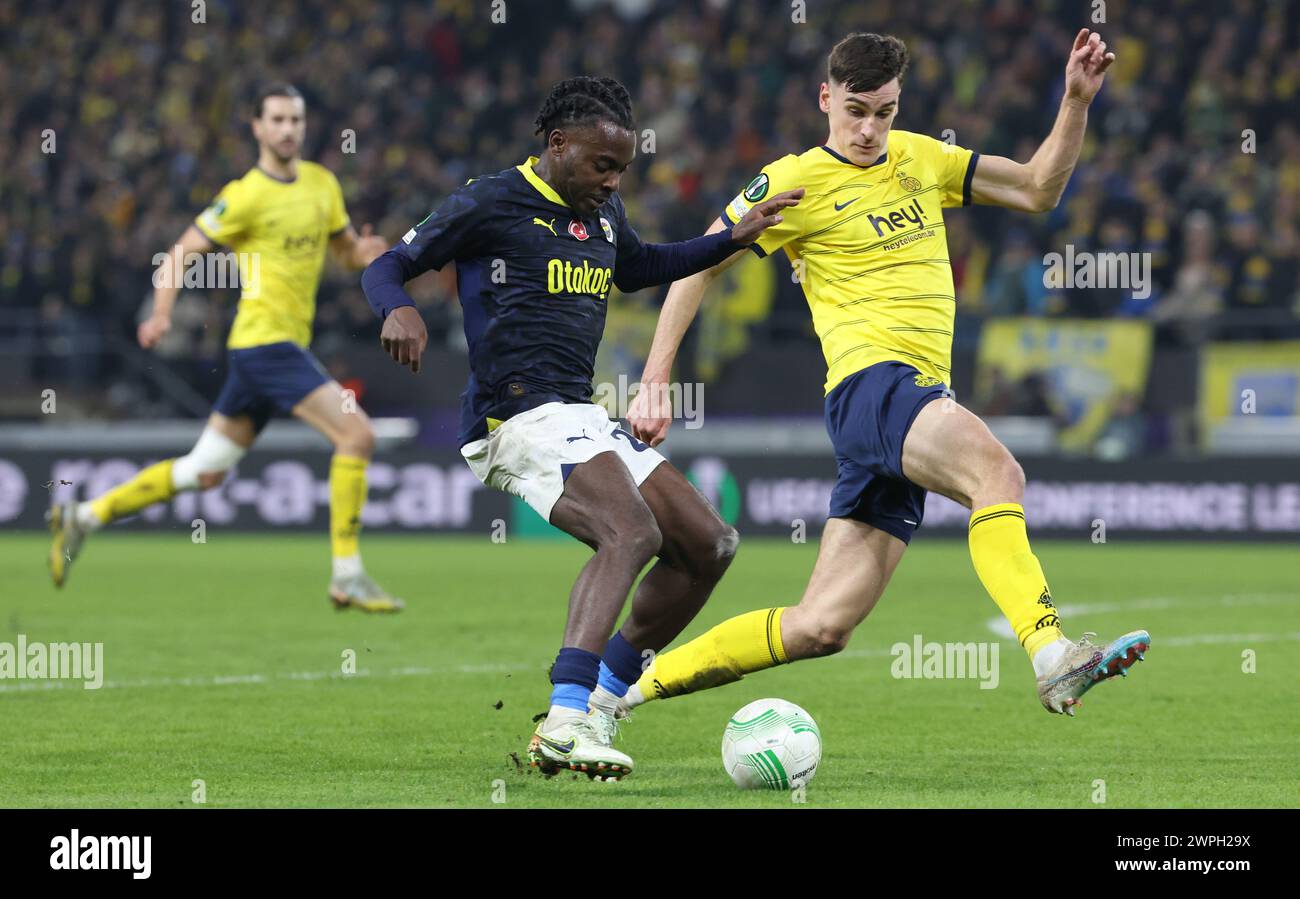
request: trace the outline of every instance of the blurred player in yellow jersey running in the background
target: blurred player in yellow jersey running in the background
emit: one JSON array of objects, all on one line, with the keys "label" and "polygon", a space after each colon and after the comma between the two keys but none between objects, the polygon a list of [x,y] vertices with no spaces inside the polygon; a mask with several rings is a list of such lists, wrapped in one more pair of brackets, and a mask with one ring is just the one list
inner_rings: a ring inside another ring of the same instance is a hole
[{"label": "blurred player in yellow jersey running in the background", "polygon": [[188,455],[151,465],[94,500],[51,509],[49,568],[57,586],[86,535],[179,491],[216,487],[278,411],[291,412],[334,444],[330,599],[338,608],[367,612],[402,608],[365,573],[358,544],[365,469],[374,449],[370,421],[307,349],[326,247],[344,266],[364,269],[387,243],[370,235],[369,226],[358,235],[338,181],[300,158],[306,129],[302,94],[291,84],[265,88],[252,118],[257,165],[222,188],[156,273],[153,313],[139,327],[146,348],[172,326],[176,273],[216,247],[238,253],[242,291],[228,342],[226,382]]}]

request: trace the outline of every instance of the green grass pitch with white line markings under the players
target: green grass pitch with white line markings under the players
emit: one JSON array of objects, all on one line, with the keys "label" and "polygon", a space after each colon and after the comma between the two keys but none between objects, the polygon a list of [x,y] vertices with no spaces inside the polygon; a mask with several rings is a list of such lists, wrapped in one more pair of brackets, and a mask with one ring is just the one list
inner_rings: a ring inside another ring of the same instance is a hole
[{"label": "green grass pitch with white line markings under the players", "polygon": [[[1294,547],[1040,542],[1067,634],[1152,633],[1147,661],[1070,720],[1043,711],[1010,640],[992,690],[892,677],[889,647],[914,634],[1000,639],[966,546],[920,537],[845,653],[646,705],[620,743],[636,773],[593,783],[511,759],[546,705],[581,546],[364,537],[408,601],[381,617],[329,607],[324,535],[188,537],[98,535],[62,591],[43,535],[0,538],[0,640],[103,642],[105,668],[100,690],[0,679],[0,805],[192,808],[195,779],[208,807],[1300,805]],[[745,540],[679,642],[797,601],[815,552]],[[820,725],[802,805],[722,769],[727,718],[763,696]]]}]

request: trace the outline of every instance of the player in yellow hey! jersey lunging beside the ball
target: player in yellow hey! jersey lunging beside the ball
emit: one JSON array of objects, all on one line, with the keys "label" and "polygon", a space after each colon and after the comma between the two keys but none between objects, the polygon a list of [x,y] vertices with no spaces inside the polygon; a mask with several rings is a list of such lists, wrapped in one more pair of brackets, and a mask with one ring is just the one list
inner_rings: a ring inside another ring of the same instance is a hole
[{"label": "player in yellow hey! jersey lunging beside the ball", "polygon": [[[826,146],[768,165],[723,213],[729,223],[771,192],[807,191],[754,249],[785,249],[826,353],[826,424],[838,479],[816,565],[798,605],[731,618],[659,655],[625,705],[842,650],[884,592],[931,490],[971,509],[975,572],[1028,652],[1049,712],[1072,716],[1091,686],[1143,657],[1150,644],[1144,630],[1104,646],[1063,637],[1026,535],[1024,473],[945,392],[956,298],[942,210],[972,201],[1054,208],[1113,60],[1100,35],[1078,34],[1052,133],[1020,164],[892,130],[907,66],[897,38],[853,34],[831,51],[819,95],[829,118]],[[719,218],[710,230],[722,227]],[[633,434],[651,446],[667,434],[670,411],[655,400],[666,395],[681,336],[710,281],[740,256],[668,292],[645,387],[628,414]]]}]

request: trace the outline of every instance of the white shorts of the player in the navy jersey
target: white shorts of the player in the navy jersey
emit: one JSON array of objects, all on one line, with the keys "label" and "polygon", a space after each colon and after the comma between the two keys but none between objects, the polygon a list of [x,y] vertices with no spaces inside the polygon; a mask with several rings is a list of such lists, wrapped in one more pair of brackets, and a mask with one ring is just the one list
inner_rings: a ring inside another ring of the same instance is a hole
[{"label": "white shorts of the player in the navy jersey", "polygon": [[546,521],[572,466],[602,452],[618,453],[638,487],[664,461],[592,403],[545,403],[460,447],[480,481],[519,496]]}]

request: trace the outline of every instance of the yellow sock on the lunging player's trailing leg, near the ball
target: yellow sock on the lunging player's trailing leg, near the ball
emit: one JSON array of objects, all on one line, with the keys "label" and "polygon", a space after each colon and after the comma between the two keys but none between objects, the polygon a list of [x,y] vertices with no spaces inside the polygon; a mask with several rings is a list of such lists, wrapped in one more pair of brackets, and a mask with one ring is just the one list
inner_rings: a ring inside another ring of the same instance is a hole
[{"label": "yellow sock on the lunging player's trailing leg, near the ball", "polygon": [[656,656],[637,681],[646,699],[667,699],[738,681],[786,661],[781,643],[785,608],[728,618],[685,646]]}]

